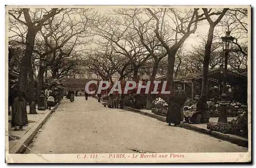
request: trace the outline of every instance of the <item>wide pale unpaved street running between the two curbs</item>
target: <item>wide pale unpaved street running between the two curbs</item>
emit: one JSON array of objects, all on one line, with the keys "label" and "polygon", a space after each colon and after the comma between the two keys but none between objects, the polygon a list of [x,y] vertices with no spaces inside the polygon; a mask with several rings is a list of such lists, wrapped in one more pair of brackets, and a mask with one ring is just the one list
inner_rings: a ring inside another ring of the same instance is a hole
[{"label": "wide pale unpaved street running between the two curbs", "polygon": [[[110,109],[89,97],[66,98],[30,147],[43,154],[246,152],[246,148],[138,113]],[[31,151],[28,153],[32,153]]]}]

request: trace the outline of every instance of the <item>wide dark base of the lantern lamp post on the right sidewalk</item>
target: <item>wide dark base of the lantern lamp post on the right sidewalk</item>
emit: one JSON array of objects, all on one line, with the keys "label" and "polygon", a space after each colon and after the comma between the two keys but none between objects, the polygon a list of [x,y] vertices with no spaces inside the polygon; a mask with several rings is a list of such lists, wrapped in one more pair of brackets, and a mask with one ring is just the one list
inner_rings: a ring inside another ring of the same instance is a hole
[{"label": "wide dark base of the lantern lamp post on the right sidewalk", "polygon": [[222,93],[221,95],[221,102],[220,102],[220,113],[218,118],[219,125],[226,125],[227,124],[227,105],[229,104],[228,96],[225,93]]}]

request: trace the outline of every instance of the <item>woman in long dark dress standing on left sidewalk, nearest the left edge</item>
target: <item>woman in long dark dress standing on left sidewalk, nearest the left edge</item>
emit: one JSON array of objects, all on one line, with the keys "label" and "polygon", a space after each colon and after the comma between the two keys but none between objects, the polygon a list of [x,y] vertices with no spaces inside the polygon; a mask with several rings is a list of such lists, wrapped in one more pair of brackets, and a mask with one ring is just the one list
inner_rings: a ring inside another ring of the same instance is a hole
[{"label": "woman in long dark dress standing on left sidewalk, nearest the left edge", "polygon": [[18,91],[12,107],[12,126],[15,127],[14,131],[22,130],[23,126],[28,124],[27,103],[24,92]]}]

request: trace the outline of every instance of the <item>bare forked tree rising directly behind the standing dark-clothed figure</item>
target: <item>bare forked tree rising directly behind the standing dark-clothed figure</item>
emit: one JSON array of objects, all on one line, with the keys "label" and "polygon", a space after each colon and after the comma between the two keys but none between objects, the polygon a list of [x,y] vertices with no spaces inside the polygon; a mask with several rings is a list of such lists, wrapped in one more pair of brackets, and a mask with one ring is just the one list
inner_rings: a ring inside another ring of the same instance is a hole
[{"label": "bare forked tree rising directly behind the standing dark-clothed figure", "polygon": [[[197,23],[199,21],[198,10],[188,10],[185,11],[185,17],[181,16],[181,12],[177,9],[147,9],[148,12],[156,20],[155,34],[158,40],[163,45],[164,49],[168,55],[168,69],[167,69],[167,82],[168,90],[173,90],[173,74],[174,74],[174,63],[175,55],[179,47],[183,42],[189,37],[190,34],[195,33],[197,29]],[[170,16],[172,14],[172,16]],[[162,34],[162,22],[165,17],[172,18],[176,28],[172,28],[175,38],[172,42],[166,40],[166,35]],[[173,17],[174,16],[174,17]]]}]

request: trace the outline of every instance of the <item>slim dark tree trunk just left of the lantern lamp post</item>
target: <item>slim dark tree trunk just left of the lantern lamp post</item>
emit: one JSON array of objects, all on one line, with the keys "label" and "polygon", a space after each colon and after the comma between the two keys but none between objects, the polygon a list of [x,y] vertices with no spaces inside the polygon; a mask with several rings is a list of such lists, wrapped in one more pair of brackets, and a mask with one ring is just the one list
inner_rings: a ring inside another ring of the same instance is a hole
[{"label": "slim dark tree trunk just left of the lantern lamp post", "polygon": [[214,37],[214,26],[210,26],[208,32],[208,39],[205,45],[204,63],[203,63],[203,78],[202,78],[202,90],[199,103],[199,109],[202,113],[201,123],[205,123],[207,119],[207,90],[208,90],[208,71],[210,60],[210,49],[212,38]]}]

